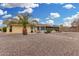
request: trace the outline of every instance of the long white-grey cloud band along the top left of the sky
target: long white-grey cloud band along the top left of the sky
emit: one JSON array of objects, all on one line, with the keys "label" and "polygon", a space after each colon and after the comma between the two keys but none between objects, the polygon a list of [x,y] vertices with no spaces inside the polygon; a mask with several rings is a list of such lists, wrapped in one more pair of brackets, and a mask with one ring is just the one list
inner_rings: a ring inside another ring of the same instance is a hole
[{"label": "long white-grey cloud band along the top left of the sky", "polygon": [[11,7],[23,7],[23,8],[35,8],[39,7],[37,3],[3,3],[1,4],[3,7],[11,8]]}]

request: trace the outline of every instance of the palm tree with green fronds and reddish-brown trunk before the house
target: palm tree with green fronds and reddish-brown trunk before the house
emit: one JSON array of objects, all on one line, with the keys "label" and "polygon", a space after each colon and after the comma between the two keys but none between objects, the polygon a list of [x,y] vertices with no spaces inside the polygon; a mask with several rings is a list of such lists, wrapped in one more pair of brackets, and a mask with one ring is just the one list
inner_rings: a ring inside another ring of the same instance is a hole
[{"label": "palm tree with green fronds and reddish-brown trunk before the house", "polygon": [[21,14],[18,16],[19,17],[19,24],[22,24],[23,26],[23,35],[27,35],[27,25],[29,24],[28,19],[29,15]]}]

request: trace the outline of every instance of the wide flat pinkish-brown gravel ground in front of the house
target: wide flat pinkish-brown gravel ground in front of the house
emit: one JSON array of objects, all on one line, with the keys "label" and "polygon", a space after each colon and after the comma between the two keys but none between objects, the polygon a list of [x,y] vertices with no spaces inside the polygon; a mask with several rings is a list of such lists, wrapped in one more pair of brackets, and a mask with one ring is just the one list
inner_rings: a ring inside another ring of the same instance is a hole
[{"label": "wide flat pinkish-brown gravel ground in front of the house", "polygon": [[0,33],[0,55],[3,56],[79,56],[79,32],[50,34]]}]

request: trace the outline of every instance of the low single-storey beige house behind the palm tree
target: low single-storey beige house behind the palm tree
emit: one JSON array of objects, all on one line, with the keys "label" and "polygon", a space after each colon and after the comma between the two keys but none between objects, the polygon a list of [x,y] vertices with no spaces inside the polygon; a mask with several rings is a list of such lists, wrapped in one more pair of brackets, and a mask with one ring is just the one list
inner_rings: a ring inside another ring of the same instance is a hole
[{"label": "low single-storey beige house behind the palm tree", "polygon": [[[12,24],[12,32],[10,32],[10,26],[7,26],[7,33],[22,33],[22,25],[21,24]],[[27,33],[30,34],[32,33],[37,33],[37,32],[44,32],[47,27],[51,27],[48,24],[36,24],[34,27],[31,25],[27,25]]]}]

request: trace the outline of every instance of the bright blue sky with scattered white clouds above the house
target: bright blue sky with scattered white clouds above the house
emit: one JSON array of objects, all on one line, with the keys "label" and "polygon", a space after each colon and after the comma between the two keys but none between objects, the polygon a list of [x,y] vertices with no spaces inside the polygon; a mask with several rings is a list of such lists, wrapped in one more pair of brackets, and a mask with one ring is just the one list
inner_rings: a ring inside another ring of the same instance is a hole
[{"label": "bright blue sky with scattered white clouds above the house", "polygon": [[[16,17],[20,13],[31,13],[32,18],[42,24],[60,25],[67,22],[64,19],[73,18],[79,12],[78,3],[38,3],[38,4],[0,4],[0,20]],[[72,17],[73,16],[73,17]],[[69,19],[70,20],[70,19]],[[66,24],[65,24],[66,25]]]}]

